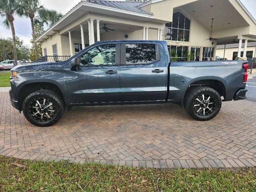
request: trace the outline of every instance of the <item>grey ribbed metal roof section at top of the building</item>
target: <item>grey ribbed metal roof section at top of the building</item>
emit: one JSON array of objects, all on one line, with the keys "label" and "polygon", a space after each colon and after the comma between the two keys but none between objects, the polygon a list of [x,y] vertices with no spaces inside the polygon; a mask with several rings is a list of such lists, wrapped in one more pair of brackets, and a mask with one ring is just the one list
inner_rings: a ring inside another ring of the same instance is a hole
[{"label": "grey ribbed metal roof section at top of the building", "polygon": [[98,4],[98,5],[103,5],[103,6],[108,6],[112,8],[117,8],[117,9],[122,9],[122,10],[127,10],[127,11],[132,11],[132,12],[137,12],[137,13],[142,13],[142,14],[148,14],[148,15],[153,15],[150,12],[147,12],[145,10],[142,10],[136,6],[139,6],[140,4],[143,4],[144,2],[136,2],[136,1],[113,1],[113,0],[86,0],[86,2],[90,2],[93,4]]}]

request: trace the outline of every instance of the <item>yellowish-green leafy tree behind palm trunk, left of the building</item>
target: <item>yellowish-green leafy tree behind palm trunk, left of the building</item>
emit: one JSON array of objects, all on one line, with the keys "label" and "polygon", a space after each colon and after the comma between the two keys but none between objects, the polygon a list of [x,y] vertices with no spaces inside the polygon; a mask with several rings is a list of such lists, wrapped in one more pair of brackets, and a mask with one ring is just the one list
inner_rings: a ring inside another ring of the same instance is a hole
[{"label": "yellowish-green leafy tree behind palm trunk, left of the building", "polygon": [[[36,39],[44,33],[44,27],[41,23],[35,24],[34,27],[35,27],[35,39]],[[37,50],[38,57],[43,56],[42,55],[42,45],[40,43],[34,44],[34,39],[32,39],[30,42],[32,43],[32,47],[30,49],[29,58],[31,61],[34,61],[34,60],[36,60],[35,50]]]}]

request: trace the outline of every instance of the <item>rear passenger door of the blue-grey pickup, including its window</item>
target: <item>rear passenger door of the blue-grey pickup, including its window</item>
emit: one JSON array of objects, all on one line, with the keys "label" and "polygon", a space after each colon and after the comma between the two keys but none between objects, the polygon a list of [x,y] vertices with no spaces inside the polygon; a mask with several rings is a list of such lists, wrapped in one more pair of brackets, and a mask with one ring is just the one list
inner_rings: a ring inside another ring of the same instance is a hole
[{"label": "rear passenger door of the blue-grey pickup, including its window", "polygon": [[168,61],[162,44],[142,42],[121,44],[121,101],[164,101],[167,94]]}]

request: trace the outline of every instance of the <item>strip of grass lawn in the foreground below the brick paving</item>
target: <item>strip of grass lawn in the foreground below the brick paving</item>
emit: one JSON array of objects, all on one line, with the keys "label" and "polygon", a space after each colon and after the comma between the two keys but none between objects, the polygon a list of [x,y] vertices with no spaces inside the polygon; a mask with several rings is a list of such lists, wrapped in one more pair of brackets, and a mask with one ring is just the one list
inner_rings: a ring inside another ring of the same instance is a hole
[{"label": "strip of grass lawn in the foreground below the brick paving", "polygon": [[252,192],[256,168],[160,170],[0,156],[0,191],[157,192],[157,180],[162,192]]}]

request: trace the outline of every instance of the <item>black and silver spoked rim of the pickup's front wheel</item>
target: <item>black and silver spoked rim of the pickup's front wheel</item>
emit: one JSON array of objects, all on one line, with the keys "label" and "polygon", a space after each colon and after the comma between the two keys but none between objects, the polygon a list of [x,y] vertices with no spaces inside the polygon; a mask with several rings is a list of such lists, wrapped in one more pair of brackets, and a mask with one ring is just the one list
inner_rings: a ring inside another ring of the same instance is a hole
[{"label": "black and silver spoked rim of the pickup's front wheel", "polygon": [[37,98],[30,104],[30,114],[38,121],[49,121],[54,117],[55,106],[46,98]]}]

